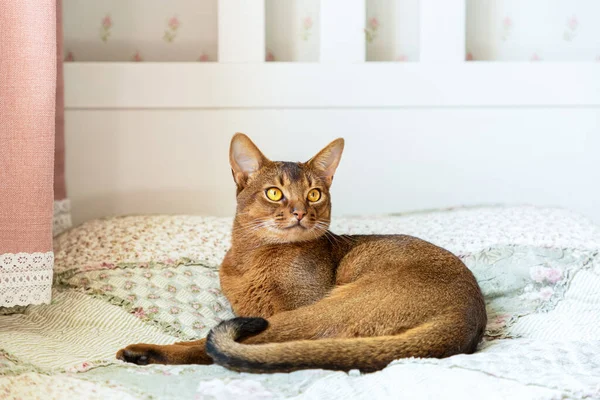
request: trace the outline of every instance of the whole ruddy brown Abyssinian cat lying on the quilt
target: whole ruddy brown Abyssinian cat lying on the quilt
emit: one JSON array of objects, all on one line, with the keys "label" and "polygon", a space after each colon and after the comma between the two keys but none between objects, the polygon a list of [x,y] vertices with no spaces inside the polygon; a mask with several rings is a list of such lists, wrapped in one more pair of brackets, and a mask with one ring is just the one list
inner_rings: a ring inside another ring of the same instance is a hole
[{"label": "whole ruddy brown Abyssinian cat lying on the quilt", "polygon": [[130,345],[137,364],[208,364],[249,372],[375,371],[403,357],[473,353],[487,322],[481,290],[450,252],[406,235],[328,231],[343,139],[305,163],[267,159],[236,134],[231,248],[220,269],[239,318],[206,339]]}]

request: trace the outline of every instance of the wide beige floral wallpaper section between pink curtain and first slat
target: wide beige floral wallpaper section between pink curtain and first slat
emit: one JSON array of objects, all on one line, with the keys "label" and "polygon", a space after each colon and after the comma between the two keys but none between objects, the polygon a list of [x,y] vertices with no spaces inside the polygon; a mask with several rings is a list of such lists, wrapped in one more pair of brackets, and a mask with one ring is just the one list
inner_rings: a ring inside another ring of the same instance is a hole
[{"label": "wide beige floral wallpaper section between pink curtain and first slat", "polygon": [[64,0],[65,61],[217,61],[218,0]]}]

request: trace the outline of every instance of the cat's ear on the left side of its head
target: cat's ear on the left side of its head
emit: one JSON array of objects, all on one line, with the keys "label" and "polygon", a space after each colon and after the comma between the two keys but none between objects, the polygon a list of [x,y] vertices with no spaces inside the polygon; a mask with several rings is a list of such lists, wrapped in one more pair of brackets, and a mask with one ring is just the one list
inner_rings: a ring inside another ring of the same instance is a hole
[{"label": "cat's ear on the left side of its head", "polygon": [[229,146],[229,164],[238,188],[244,188],[248,178],[267,162],[269,160],[248,136],[243,133],[233,135]]}]

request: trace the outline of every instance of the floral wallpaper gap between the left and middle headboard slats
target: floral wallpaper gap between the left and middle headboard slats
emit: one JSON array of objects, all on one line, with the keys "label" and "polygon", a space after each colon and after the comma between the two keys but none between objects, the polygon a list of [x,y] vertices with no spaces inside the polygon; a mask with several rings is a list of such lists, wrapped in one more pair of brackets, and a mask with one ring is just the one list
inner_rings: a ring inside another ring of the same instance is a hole
[{"label": "floral wallpaper gap between the left and middle headboard slats", "polygon": [[266,61],[319,61],[320,0],[266,0]]}]

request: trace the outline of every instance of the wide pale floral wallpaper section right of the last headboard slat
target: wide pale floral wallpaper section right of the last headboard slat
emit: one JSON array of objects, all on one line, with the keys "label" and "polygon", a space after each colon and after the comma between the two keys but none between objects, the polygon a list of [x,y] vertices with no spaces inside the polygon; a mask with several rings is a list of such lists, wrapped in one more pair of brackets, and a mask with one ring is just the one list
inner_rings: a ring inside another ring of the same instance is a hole
[{"label": "wide pale floral wallpaper section right of the last headboard slat", "polygon": [[600,2],[467,0],[471,60],[600,61]]}]

